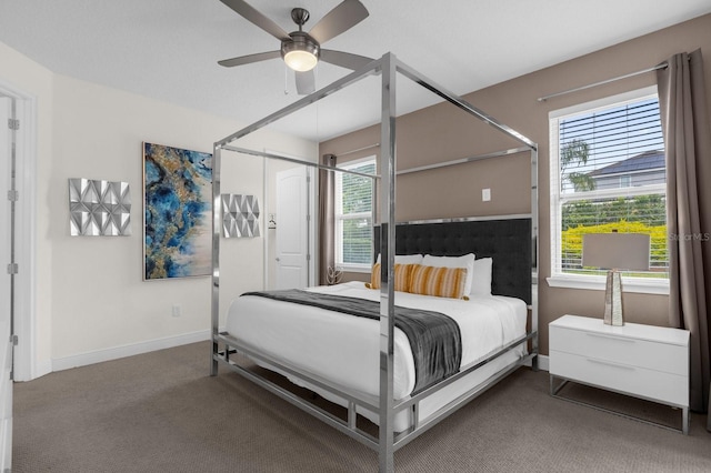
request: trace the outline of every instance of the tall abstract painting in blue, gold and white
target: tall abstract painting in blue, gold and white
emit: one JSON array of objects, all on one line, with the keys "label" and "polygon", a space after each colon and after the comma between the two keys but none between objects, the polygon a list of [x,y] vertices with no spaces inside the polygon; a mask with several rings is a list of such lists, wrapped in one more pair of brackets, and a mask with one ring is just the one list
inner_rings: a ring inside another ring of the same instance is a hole
[{"label": "tall abstract painting in blue, gold and white", "polygon": [[143,143],[143,279],[212,273],[212,154]]}]

